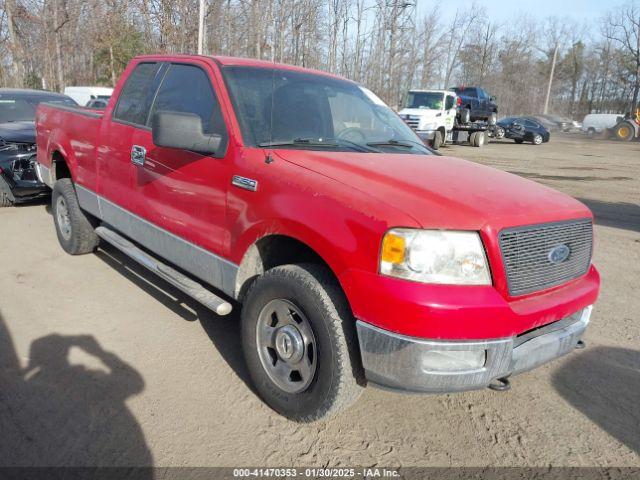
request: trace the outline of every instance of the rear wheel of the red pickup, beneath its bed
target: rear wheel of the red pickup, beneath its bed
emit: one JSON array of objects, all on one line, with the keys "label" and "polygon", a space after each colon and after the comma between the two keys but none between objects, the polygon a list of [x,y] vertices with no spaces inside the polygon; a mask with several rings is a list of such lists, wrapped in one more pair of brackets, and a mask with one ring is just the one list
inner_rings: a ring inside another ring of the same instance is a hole
[{"label": "rear wheel of the red pickup, beneath its bed", "polygon": [[94,231],[97,221],[80,209],[71,179],[62,178],[53,186],[51,211],[58,241],[65,252],[82,255],[98,247],[100,237]]}]

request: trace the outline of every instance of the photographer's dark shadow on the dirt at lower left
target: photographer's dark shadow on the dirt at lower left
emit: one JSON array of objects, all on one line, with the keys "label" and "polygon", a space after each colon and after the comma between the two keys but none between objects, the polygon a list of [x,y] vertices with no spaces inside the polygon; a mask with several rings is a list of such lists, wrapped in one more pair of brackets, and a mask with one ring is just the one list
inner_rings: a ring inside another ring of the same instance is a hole
[{"label": "photographer's dark shadow on the dirt at lower left", "polygon": [[[108,372],[71,365],[72,348]],[[38,338],[21,362],[0,314],[0,466],[153,465],[125,404],[143,389],[140,374],[90,335]]]}]

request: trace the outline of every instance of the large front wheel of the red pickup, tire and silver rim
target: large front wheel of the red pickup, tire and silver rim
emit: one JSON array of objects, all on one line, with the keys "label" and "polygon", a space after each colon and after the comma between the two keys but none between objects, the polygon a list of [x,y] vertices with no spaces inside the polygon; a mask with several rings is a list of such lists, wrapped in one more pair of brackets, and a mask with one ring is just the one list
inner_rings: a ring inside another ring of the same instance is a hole
[{"label": "large front wheel of the red pickup, tire and silver rim", "polygon": [[242,346],[262,399],[292,420],[331,416],[362,391],[353,318],[323,267],[284,265],[255,280],[242,308]]}]

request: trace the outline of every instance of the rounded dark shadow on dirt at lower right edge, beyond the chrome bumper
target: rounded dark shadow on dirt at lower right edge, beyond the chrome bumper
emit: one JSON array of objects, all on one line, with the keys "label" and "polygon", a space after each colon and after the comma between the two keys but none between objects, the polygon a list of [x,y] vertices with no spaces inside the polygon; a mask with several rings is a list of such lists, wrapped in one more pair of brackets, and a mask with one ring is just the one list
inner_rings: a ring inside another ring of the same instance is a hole
[{"label": "rounded dark shadow on dirt at lower right edge, beyond the chrome bumper", "polygon": [[640,351],[585,350],[553,375],[553,385],[602,430],[640,453]]}]

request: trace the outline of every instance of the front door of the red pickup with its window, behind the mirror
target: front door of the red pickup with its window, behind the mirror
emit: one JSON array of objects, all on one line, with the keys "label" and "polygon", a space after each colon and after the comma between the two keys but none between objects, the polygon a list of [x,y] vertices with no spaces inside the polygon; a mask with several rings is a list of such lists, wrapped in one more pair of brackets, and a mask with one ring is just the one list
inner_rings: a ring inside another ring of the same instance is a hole
[{"label": "front door of the red pickup with its window, behind the mirror", "polygon": [[[138,129],[132,138],[132,154],[136,151],[139,158],[134,162],[132,155],[131,210],[155,227],[161,248],[172,250],[159,252],[165,258],[171,258],[176,248],[183,250],[182,257],[195,258],[198,249],[216,255],[228,253],[226,195],[232,162],[214,78],[205,62],[169,63],[150,108],[147,128]],[[151,124],[158,111],[198,115],[203,133],[222,136],[220,149],[211,155],[154,145]],[[187,244],[176,243],[172,236]]]}]

